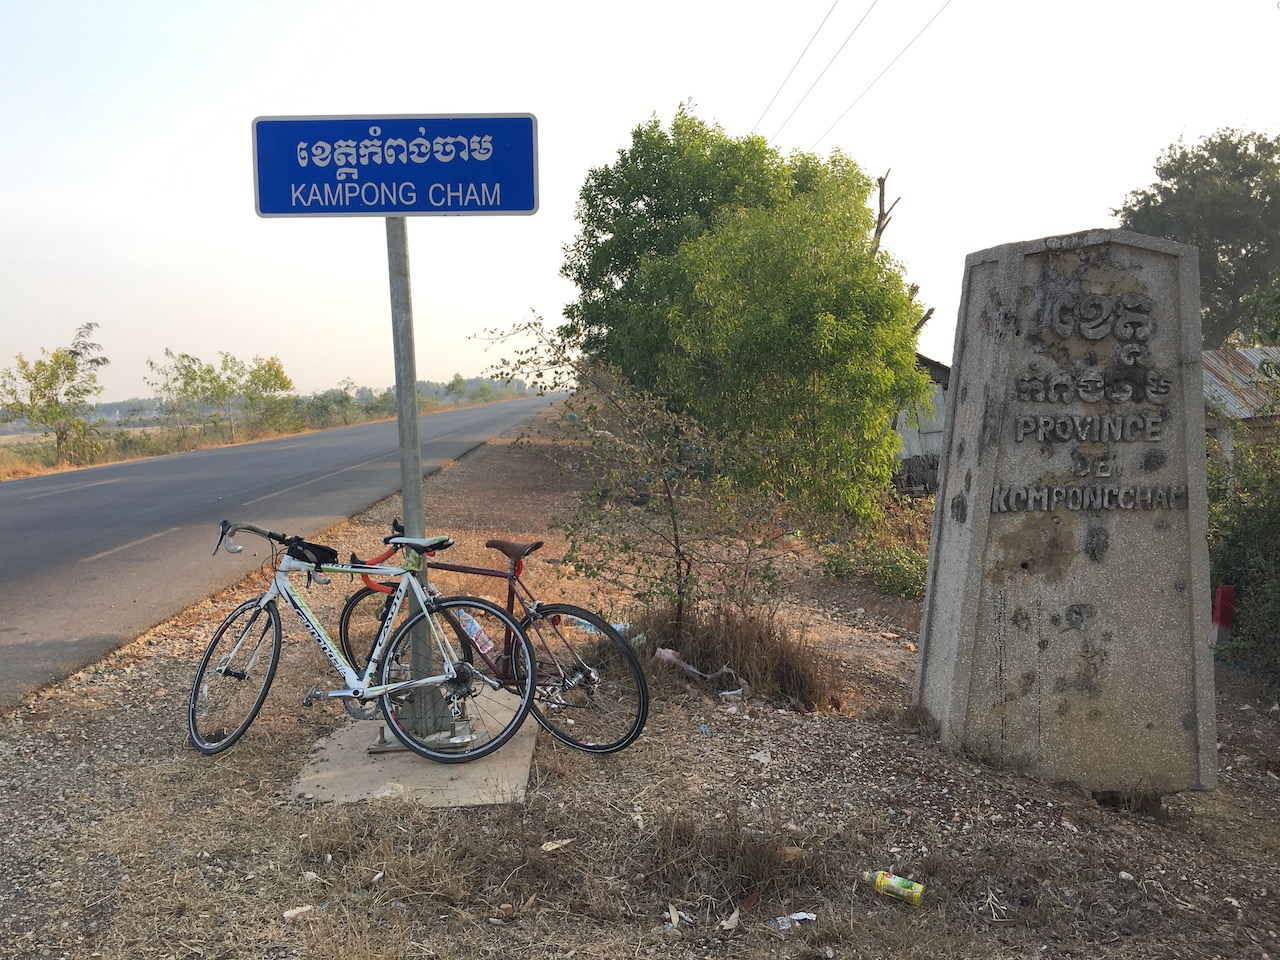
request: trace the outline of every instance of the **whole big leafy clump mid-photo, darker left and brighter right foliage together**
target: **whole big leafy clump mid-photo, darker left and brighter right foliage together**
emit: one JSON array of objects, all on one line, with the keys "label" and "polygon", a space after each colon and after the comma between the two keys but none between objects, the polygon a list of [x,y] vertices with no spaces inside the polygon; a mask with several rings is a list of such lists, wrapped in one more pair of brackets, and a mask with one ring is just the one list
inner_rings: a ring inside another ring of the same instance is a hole
[{"label": "whole big leafy clump mid-photo, darker left and brighter right foliage together", "polygon": [[718,438],[753,442],[776,494],[876,513],[893,416],[923,402],[922,319],[879,247],[886,218],[851,160],[783,160],[677,111],[591,170],[562,273],[561,328],[584,355],[667,398]]}]

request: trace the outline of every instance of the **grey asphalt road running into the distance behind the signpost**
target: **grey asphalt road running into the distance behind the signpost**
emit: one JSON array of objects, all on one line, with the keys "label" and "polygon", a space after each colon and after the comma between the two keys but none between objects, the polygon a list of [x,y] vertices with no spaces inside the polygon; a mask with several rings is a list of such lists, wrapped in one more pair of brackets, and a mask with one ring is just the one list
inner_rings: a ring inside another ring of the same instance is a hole
[{"label": "grey asphalt road running into the distance behind the signpost", "polygon": [[[422,472],[548,403],[421,417]],[[256,567],[256,538],[214,558],[220,521],[314,536],[398,490],[394,421],[0,484],[0,709]]]}]

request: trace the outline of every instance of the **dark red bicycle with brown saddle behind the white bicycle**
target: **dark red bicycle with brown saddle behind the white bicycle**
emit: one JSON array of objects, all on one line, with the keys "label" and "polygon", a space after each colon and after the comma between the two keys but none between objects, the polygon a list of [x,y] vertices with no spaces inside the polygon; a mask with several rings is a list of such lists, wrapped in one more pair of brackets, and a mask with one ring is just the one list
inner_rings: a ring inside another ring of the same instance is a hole
[{"label": "dark red bicycle with brown saddle behind the white bicycle", "polygon": [[[399,521],[392,524],[397,535]],[[443,563],[428,554],[428,570],[442,570],[507,581],[507,612],[520,618],[520,628],[534,649],[534,701],[531,713],[538,723],[557,740],[577,750],[609,754],[635,742],[649,716],[649,686],[631,644],[622,632],[591,611],[568,603],[541,603],[521,579],[524,561],[543,545],[489,540],[485,547],[507,558],[507,568],[472,567]],[[383,563],[396,552],[369,563]],[[355,561],[355,558],[352,558]],[[369,659],[369,650],[388,613],[390,586],[364,577],[365,586],[347,600],[338,625],[339,643],[347,659],[360,666]],[[452,627],[458,635],[472,635],[470,623]],[[508,631],[509,632],[509,631]],[[480,641],[481,649],[484,643]],[[518,676],[518,658],[509,655],[516,637],[492,637],[497,676],[520,690],[525,677]],[[465,655],[471,645],[465,644]],[[357,655],[364,650],[364,657]]]}]

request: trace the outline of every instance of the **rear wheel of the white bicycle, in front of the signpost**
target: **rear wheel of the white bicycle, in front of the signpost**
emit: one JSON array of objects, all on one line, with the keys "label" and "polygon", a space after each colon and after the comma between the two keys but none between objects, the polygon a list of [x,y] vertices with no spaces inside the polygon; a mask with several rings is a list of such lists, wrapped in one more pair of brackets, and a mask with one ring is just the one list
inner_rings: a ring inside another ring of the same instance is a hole
[{"label": "rear wheel of the white bicycle, in front of the signpost", "polygon": [[[463,631],[460,613],[494,639],[492,653],[483,653]],[[392,735],[420,756],[438,763],[479,760],[511,740],[529,716],[534,690],[518,678],[532,671],[532,648],[500,607],[475,596],[436,598],[397,627],[379,667],[379,684],[411,680],[421,671],[421,664],[413,663],[412,635],[429,617],[433,631],[440,631],[454,648],[458,676],[407,694],[381,695],[383,716]],[[428,643],[438,660],[434,641]],[[428,669],[442,672],[438,662]],[[438,698],[430,695],[433,691]]]}]

